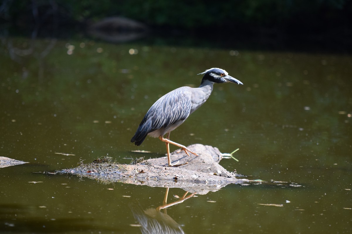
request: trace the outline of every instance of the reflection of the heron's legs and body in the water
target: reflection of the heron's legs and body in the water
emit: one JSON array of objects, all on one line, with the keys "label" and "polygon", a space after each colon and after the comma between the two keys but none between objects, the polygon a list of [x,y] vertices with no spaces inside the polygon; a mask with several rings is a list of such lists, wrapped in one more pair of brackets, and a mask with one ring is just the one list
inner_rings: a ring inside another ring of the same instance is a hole
[{"label": "reflection of the heron's legs and body in the water", "polygon": [[[169,188],[166,188],[163,205],[158,206],[157,208],[148,208],[146,210],[143,210],[142,206],[139,204],[138,201],[129,204],[134,218],[141,225],[140,229],[143,234],[184,233],[181,226],[166,213],[165,208],[174,206],[178,203],[182,203],[187,199],[195,196],[196,193],[192,193],[187,196],[188,192],[186,192],[181,198],[176,196],[177,198],[179,198],[177,201],[167,203],[168,193]],[[161,209],[163,209],[163,213],[161,212]]]}]

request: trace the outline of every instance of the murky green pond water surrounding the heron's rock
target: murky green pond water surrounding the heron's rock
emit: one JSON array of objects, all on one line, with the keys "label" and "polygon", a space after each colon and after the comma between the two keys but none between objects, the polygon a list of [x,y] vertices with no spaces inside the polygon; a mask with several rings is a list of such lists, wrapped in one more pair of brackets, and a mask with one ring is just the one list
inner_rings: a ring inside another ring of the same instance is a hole
[{"label": "murky green pond water surrounding the heron's rock", "polygon": [[[211,67],[244,85],[215,84],[171,140],[240,148],[239,162],[220,164],[302,187],[228,185],[167,214],[184,233],[352,232],[352,56],[27,38],[0,52],[0,156],[29,162],[0,168],[0,233],[141,233],[128,204],[156,208],[165,188],[47,172],[106,155],[129,163],[134,150],[163,156],[158,139],[130,142],[139,122]],[[170,189],[168,202],[183,194]]]}]

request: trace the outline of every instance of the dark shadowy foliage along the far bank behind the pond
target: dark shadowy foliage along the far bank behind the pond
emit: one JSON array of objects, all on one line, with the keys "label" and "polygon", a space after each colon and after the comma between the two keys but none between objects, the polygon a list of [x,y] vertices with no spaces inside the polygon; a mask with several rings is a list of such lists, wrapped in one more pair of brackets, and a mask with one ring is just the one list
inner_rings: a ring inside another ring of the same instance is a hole
[{"label": "dark shadowy foliage along the far bank behind the pond", "polygon": [[125,16],[152,28],[175,29],[197,34],[238,32],[262,34],[350,34],[351,0],[4,0],[0,6],[2,24],[30,28],[36,21],[76,25],[108,16]]}]

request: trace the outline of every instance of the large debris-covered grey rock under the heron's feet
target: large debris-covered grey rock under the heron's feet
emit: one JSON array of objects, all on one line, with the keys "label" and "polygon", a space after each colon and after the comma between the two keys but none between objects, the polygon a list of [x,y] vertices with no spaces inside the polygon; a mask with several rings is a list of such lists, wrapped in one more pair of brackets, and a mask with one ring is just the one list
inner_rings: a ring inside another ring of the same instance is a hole
[{"label": "large debris-covered grey rock under the heron's feet", "polygon": [[188,156],[183,151],[171,154],[173,164],[186,165],[168,167],[167,157],[148,159],[136,165],[121,165],[112,161],[96,160],[93,163],[81,164],[59,173],[76,174],[97,179],[101,182],[123,182],[150,187],[182,188],[190,193],[206,194],[216,191],[230,183],[242,183],[234,175],[219,165],[222,156],[219,149],[201,144],[188,148],[199,156]]}]

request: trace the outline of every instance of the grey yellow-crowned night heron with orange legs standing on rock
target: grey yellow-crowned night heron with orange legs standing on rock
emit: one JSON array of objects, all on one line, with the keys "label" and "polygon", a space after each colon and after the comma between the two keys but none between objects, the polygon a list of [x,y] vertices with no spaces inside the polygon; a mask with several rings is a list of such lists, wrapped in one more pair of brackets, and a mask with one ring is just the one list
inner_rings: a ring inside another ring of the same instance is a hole
[{"label": "grey yellow-crowned night heron with orange legs standing on rock", "polygon": [[[180,147],[188,156],[188,152],[197,155],[186,146],[170,141],[170,132],[180,126],[190,114],[209,98],[213,91],[214,83],[231,82],[243,85],[241,81],[228,75],[228,73],[221,68],[210,68],[198,75],[201,74],[204,74],[204,76],[198,88],[184,86],[159,98],[150,107],[131,139],[131,142],[134,142],[137,146],[142,144],[147,135],[155,138],[158,137],[165,142],[169,167],[172,166],[169,144]],[[166,133],[168,135],[164,138]]]}]

